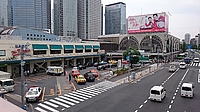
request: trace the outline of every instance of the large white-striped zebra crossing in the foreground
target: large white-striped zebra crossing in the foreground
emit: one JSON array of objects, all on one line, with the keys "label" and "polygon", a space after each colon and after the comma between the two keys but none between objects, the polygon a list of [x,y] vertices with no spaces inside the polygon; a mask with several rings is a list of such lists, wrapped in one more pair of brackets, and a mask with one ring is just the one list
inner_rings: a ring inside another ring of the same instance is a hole
[{"label": "large white-striped zebra crossing in the foreground", "polygon": [[117,82],[102,81],[92,86],[39,103],[34,109],[36,112],[60,112],[119,85],[121,84]]}]

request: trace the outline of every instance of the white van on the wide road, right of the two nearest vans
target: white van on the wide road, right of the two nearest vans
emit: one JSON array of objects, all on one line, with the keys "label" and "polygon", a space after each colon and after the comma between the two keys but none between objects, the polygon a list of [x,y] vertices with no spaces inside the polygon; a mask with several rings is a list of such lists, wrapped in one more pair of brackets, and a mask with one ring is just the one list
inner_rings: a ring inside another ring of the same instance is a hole
[{"label": "white van on the wide road, right of the two nearest vans", "polygon": [[192,83],[183,83],[181,86],[181,96],[193,98],[194,96],[193,88],[194,86]]}]

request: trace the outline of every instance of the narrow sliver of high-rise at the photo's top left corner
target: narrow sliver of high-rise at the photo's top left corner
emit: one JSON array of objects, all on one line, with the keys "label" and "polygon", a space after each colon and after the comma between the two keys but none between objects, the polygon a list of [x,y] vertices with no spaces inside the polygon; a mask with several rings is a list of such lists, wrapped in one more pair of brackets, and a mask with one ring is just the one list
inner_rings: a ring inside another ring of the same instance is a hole
[{"label": "narrow sliver of high-rise at the photo's top left corner", "polygon": [[1,0],[0,26],[11,26],[11,0]]}]

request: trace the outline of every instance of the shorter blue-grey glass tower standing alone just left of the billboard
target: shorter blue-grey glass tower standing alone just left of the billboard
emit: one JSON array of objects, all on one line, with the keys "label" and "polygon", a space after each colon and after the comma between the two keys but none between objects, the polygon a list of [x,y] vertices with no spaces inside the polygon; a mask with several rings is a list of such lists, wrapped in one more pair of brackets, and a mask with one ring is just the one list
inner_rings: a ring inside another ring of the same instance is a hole
[{"label": "shorter blue-grey glass tower standing alone just left of the billboard", "polygon": [[123,2],[105,6],[105,34],[126,34],[126,4]]}]

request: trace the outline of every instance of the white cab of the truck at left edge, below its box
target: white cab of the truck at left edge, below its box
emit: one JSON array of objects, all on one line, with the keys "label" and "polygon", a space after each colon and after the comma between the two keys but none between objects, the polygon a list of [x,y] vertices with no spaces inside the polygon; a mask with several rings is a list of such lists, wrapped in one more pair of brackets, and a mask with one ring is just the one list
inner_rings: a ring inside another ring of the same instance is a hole
[{"label": "white cab of the truck at left edge, below its box", "polygon": [[13,79],[1,79],[0,80],[0,88],[5,89],[7,92],[14,91],[14,80]]}]

